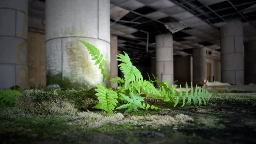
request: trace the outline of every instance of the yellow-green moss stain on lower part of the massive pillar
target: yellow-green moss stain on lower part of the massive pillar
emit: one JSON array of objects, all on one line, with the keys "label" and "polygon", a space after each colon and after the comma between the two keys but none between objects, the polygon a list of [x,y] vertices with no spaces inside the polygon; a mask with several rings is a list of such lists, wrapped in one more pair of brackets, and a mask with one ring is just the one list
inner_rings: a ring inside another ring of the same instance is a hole
[{"label": "yellow-green moss stain on lower part of the massive pillar", "polygon": [[[64,69],[61,73],[52,74],[51,70],[46,74],[46,85],[58,84],[63,89],[84,88],[90,89],[97,84],[102,83],[103,75],[100,73],[98,66],[94,65],[92,57],[89,55],[86,46],[77,40],[66,42],[64,50],[67,63],[64,63]],[[108,67],[106,73],[109,73],[110,62],[108,55],[105,57],[105,67]],[[63,62],[62,62],[63,63]],[[104,82],[110,87],[110,77]]]}]

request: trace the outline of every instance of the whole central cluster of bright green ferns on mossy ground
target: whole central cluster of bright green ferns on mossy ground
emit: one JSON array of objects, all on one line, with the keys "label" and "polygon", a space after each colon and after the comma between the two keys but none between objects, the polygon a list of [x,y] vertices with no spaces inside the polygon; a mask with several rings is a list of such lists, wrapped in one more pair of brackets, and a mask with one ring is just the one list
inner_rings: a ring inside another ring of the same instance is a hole
[{"label": "whole central cluster of bright green ferns on mossy ground", "polygon": [[[85,41],[81,41],[88,49],[89,54],[93,57],[92,60],[96,60],[95,65],[99,65],[99,69],[103,74],[103,80],[107,78],[110,74],[104,73],[107,70],[107,67],[103,67],[105,60],[103,59],[103,55],[100,54],[99,50],[89,43]],[[152,80],[143,80],[143,77],[140,71],[132,65],[129,56],[124,52],[124,55],[118,54],[118,61],[122,62],[118,65],[121,72],[124,73],[124,79],[116,77],[110,81],[117,82],[119,84],[116,91],[112,89],[108,89],[103,84],[98,84],[95,89],[97,91],[96,96],[98,96],[99,103],[94,106],[93,108],[103,109],[109,112],[110,115],[113,114],[113,110],[115,106],[117,106],[117,98],[121,101],[125,101],[124,104],[117,107],[117,109],[127,109],[126,112],[138,111],[138,108],[148,110],[151,108],[153,110],[157,110],[158,107],[153,105],[146,104],[144,102],[144,98],[141,97],[138,93],[143,91],[146,93],[147,97],[151,94],[154,94],[156,97],[163,97],[164,101],[170,101],[171,99],[174,101],[174,107],[177,106],[179,99],[182,99],[183,103],[182,106],[185,106],[185,100],[188,99],[186,102],[186,106],[191,104],[191,99],[193,100],[195,105],[201,105],[202,101],[204,105],[206,101],[209,101],[211,97],[211,93],[207,90],[197,86],[195,86],[195,92],[193,92],[193,85],[191,83],[191,92],[189,95],[188,91],[188,84],[186,84],[186,91],[183,95],[182,88],[180,85],[180,91],[175,91],[175,85],[169,87],[169,80],[166,82],[159,81],[156,77],[154,77],[154,81]],[[157,90],[153,82],[157,82],[160,86],[159,90]]]}]

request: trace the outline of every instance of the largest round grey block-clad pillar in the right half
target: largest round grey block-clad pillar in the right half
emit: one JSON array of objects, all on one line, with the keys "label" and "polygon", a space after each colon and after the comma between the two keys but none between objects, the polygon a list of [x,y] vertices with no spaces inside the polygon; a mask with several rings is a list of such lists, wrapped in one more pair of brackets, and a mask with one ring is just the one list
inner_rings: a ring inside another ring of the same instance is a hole
[{"label": "largest round grey block-clad pillar in the right half", "polygon": [[228,21],[221,27],[221,81],[244,84],[243,23]]}]

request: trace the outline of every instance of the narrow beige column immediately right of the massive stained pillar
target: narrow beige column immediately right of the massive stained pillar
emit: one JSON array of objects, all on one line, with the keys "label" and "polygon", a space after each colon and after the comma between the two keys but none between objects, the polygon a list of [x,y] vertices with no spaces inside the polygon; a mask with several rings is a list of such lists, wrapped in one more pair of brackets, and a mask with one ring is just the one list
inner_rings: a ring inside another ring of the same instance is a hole
[{"label": "narrow beige column immediately right of the massive stained pillar", "polygon": [[[117,36],[111,35],[110,37],[110,77],[115,78],[118,76],[118,61],[117,59],[117,51],[118,51],[118,46],[117,46]],[[112,82],[111,86],[113,88],[116,88],[118,84],[116,82]]]}]

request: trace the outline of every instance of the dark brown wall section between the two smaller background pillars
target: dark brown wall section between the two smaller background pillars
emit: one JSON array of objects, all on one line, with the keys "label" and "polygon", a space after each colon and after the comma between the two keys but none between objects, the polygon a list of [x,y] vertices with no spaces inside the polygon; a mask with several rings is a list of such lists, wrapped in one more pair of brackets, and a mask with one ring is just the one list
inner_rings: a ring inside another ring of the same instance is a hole
[{"label": "dark brown wall section between the two smaller background pillars", "polygon": [[[185,86],[186,82],[191,82],[191,58],[190,56],[173,56],[173,73],[176,84]],[[190,85],[190,84],[189,84]]]}]

